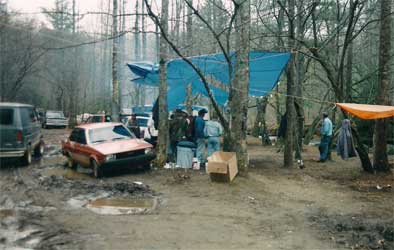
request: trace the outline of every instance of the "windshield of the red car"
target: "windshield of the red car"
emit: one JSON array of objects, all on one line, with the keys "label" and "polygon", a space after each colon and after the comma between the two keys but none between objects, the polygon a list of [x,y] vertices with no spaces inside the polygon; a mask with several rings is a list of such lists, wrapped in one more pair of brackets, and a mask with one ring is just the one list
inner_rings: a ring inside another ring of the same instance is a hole
[{"label": "windshield of the red car", "polygon": [[135,138],[123,125],[89,130],[90,143],[116,141]]}]

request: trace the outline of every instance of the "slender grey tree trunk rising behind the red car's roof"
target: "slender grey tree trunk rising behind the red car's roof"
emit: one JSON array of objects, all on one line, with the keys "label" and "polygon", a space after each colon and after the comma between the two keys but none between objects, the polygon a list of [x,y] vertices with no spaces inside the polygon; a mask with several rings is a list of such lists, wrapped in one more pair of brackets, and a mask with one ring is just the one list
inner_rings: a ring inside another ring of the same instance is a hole
[{"label": "slender grey tree trunk rising behind the red car's roof", "polygon": [[[112,1],[112,36],[118,35],[118,0]],[[118,48],[119,40],[112,39],[112,120],[119,121]]]}]

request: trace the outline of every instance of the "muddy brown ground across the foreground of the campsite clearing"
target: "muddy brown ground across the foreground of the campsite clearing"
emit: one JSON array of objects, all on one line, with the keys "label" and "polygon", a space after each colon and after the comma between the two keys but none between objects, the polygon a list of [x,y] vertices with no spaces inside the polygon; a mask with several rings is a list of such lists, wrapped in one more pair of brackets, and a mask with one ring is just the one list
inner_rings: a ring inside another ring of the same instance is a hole
[{"label": "muddy brown ground across the foreground of the campsite clearing", "polygon": [[[277,148],[251,139],[249,174],[231,184],[157,169],[96,180],[64,168],[68,133],[44,130],[29,167],[1,163],[0,249],[394,249],[393,175],[358,159],[316,163],[306,147],[305,168],[284,169]],[[108,199],[115,213],[95,207]]]}]

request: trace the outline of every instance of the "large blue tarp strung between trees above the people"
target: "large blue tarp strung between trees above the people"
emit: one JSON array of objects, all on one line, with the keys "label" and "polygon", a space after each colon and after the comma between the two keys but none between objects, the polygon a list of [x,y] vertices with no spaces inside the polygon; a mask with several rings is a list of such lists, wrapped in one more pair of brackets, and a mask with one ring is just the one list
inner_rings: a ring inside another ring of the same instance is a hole
[{"label": "large blue tarp strung between trees above the people", "polygon": [[[228,93],[224,90],[230,84],[229,67],[223,54],[211,54],[190,57],[206,77],[215,79],[224,88],[210,86],[210,89],[219,105],[224,105],[228,99]],[[234,53],[231,54],[231,62],[234,65]],[[249,54],[249,95],[265,96],[276,85],[283,72],[290,53],[277,52],[250,52]],[[129,63],[130,70],[137,75],[134,82],[150,86],[159,85],[159,69],[157,64]],[[234,69],[233,69],[234,71]],[[184,103],[186,86],[192,85],[193,95],[208,93],[197,73],[181,58],[167,63],[167,93],[168,109],[174,109],[178,104]]]}]

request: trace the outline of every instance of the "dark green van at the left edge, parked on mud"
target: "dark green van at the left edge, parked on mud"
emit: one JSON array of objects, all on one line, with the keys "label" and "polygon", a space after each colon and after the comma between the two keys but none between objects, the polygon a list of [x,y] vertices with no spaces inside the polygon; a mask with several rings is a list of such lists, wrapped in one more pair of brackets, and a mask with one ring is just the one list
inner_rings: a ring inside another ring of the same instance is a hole
[{"label": "dark green van at the left edge, parked on mud", "polygon": [[34,107],[0,103],[0,158],[19,158],[22,165],[29,165],[33,153],[44,153],[41,124]]}]

